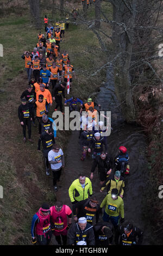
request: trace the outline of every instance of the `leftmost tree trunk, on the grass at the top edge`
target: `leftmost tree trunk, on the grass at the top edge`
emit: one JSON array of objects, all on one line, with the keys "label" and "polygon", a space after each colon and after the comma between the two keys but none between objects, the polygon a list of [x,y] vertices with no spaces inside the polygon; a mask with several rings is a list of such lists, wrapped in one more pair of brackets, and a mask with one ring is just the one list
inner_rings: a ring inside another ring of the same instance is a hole
[{"label": "leftmost tree trunk, on the grass at the top edge", "polygon": [[35,28],[41,29],[40,0],[29,0],[30,16],[34,20]]}]

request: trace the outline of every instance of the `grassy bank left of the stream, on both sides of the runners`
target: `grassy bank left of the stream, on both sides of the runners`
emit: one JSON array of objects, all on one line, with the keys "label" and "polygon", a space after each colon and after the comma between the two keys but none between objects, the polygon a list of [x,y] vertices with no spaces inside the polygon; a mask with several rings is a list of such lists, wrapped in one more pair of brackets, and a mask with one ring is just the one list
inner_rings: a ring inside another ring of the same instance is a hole
[{"label": "grassy bank left of the stream, on both sides of the runners", "polygon": [[[43,202],[53,204],[55,194],[52,175],[45,174],[42,154],[37,152],[37,128],[32,127],[34,143],[22,142],[22,128],[17,118],[20,95],[27,87],[27,74],[21,56],[24,51],[32,51],[37,42],[36,31],[29,23],[29,13],[23,16],[10,14],[0,22],[0,38],[4,48],[1,58],[0,100],[1,100],[1,178],[3,199],[0,199],[1,245],[29,245],[30,224]],[[42,31],[44,29],[42,28]],[[96,49],[95,49],[96,46]],[[70,96],[77,95],[85,100],[92,92],[97,92],[105,72],[91,77],[97,63],[103,65],[104,56],[99,51],[96,36],[82,26],[70,25],[61,42],[61,51],[67,50],[76,71]],[[51,108],[53,112],[55,103]],[[57,132],[56,142],[63,150],[70,133]]]}]

